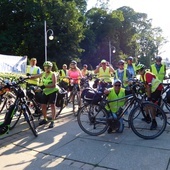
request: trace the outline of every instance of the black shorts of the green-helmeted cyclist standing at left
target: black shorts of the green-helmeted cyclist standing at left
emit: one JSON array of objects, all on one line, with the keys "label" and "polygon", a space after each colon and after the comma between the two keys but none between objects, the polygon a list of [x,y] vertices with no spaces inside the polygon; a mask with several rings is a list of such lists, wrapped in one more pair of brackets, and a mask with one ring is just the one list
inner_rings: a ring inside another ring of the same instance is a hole
[{"label": "black shorts of the green-helmeted cyclist standing at left", "polygon": [[57,93],[53,92],[49,95],[42,94],[41,104],[55,104],[57,100]]}]

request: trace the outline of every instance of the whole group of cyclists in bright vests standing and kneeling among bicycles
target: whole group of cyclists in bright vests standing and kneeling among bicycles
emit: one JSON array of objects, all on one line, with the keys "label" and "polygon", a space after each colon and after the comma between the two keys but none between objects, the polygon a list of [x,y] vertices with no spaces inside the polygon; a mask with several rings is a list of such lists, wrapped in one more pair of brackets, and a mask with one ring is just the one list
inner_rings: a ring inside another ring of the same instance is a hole
[{"label": "whole group of cyclists in bright vests standing and kneeling among bicycles", "polygon": [[[156,102],[161,97],[162,91],[162,82],[166,75],[166,66],[161,63],[162,58],[160,56],[156,57],[156,62],[151,65],[150,71],[146,70],[145,65],[133,63],[133,57],[128,57],[126,62],[124,60],[119,60],[117,65],[118,68],[115,70],[110,63],[105,59],[101,60],[94,74],[98,76],[99,79],[104,80],[108,85],[107,89],[104,91],[108,95],[109,100],[118,99],[124,97],[128,91],[129,80],[136,76],[140,75],[140,80],[144,82],[147,99],[152,102]],[[76,61],[71,61],[69,69],[66,64],[63,64],[62,69],[59,71],[58,76],[52,72],[52,62],[45,61],[43,64],[44,72],[41,73],[40,68],[36,66],[36,58],[30,60],[30,66],[28,66],[27,74],[30,76],[28,80],[28,85],[38,85],[39,80],[41,79],[41,88],[43,89],[42,96],[42,113],[44,119],[39,122],[40,125],[47,124],[47,104],[51,106],[52,120],[50,122],[49,128],[54,127],[54,120],[56,118],[56,107],[55,102],[57,99],[57,77],[59,81],[62,81],[63,78],[68,77],[72,83],[80,84],[80,79],[85,77],[88,74],[87,64],[83,65],[83,69],[80,70],[77,67]],[[80,92],[80,87],[77,86],[77,91]],[[71,91],[72,86],[69,86],[69,91]],[[80,95],[80,94],[79,94]],[[114,102],[110,106],[112,112],[117,112],[123,103]],[[151,123],[150,129],[156,129],[157,123],[155,120],[155,115],[152,115],[152,118],[148,117],[143,119],[148,123]],[[122,132],[123,130],[121,130]],[[108,129],[108,133],[111,133],[112,129]]]}]

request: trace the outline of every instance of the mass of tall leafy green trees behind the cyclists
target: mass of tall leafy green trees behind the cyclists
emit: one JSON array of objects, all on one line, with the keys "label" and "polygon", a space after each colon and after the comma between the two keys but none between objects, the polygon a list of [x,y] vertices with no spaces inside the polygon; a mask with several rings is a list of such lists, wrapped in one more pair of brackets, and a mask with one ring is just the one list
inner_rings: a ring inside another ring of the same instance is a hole
[{"label": "mass of tall leafy green trees behind the cyclists", "polygon": [[0,53],[36,57],[42,65],[46,21],[54,32],[54,40],[47,40],[48,60],[58,68],[72,59],[95,67],[109,60],[109,43],[116,49],[114,66],[127,56],[149,66],[166,43],[161,28],[130,7],[108,10],[107,2],[86,11],[86,0],[1,0]]}]

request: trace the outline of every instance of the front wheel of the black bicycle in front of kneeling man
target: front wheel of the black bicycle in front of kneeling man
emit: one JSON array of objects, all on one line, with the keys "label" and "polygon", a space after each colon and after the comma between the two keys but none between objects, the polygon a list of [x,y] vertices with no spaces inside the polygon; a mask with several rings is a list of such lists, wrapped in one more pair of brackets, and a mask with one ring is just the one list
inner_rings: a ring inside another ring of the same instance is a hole
[{"label": "front wheel of the black bicycle in front of kneeling man", "polygon": [[[142,120],[147,114],[153,117],[156,113],[155,120],[157,127],[155,130],[150,130],[151,123]],[[167,124],[167,119],[164,111],[153,103],[142,103],[141,106],[136,106],[129,115],[130,127],[132,131],[143,139],[154,139],[160,136]]]}]

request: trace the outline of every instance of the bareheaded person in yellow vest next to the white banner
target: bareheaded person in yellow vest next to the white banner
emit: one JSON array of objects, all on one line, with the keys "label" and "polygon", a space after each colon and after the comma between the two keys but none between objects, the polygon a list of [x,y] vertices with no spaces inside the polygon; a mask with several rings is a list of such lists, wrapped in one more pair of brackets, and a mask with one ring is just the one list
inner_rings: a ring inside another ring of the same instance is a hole
[{"label": "bareheaded person in yellow vest next to the white banner", "polygon": [[[41,69],[40,67],[36,66],[37,64],[37,59],[36,58],[31,58],[30,60],[30,65],[27,66],[26,69],[26,75],[35,75],[35,74],[40,74],[41,73]],[[27,81],[27,87],[31,86],[31,85],[39,85],[40,83],[40,79],[36,78],[36,79],[30,79]]]}]

